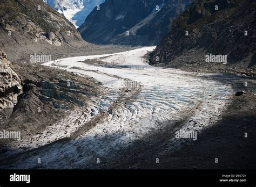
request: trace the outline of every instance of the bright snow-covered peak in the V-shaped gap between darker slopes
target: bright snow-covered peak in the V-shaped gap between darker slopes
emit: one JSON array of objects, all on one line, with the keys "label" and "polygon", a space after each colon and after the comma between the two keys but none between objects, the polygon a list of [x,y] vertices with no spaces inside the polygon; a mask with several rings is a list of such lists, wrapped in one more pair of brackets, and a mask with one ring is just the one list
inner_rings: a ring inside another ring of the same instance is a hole
[{"label": "bright snow-covered peak in the V-shaped gap between darker slopes", "polygon": [[51,8],[57,10],[70,20],[77,28],[82,25],[86,17],[105,0],[44,0]]}]

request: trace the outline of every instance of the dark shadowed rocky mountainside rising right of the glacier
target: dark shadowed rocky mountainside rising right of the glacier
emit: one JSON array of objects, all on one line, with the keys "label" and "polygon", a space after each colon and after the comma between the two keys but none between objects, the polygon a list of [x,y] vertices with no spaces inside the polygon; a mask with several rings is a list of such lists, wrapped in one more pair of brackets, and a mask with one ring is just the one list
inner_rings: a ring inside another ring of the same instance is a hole
[{"label": "dark shadowed rocky mountainside rising right of the glacier", "polygon": [[255,7],[253,0],[195,1],[173,22],[172,31],[151,54],[150,63],[193,61],[195,56],[198,59],[193,63],[205,63],[205,55],[211,53],[227,55],[227,64],[254,66]]}]

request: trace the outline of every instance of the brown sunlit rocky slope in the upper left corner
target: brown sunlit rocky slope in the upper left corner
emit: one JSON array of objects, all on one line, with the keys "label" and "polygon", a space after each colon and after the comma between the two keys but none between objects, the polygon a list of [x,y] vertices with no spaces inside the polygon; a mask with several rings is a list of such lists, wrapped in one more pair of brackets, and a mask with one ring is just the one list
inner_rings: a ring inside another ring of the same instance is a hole
[{"label": "brown sunlit rocky slope in the upper left corner", "polygon": [[10,60],[87,44],[68,19],[42,0],[1,0],[0,15],[0,48]]}]

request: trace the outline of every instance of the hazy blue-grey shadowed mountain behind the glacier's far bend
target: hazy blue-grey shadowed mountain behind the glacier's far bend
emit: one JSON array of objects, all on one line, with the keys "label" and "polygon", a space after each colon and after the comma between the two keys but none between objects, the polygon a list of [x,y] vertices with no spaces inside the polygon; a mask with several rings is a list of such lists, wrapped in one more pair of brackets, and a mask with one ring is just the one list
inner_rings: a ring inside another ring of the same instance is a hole
[{"label": "hazy blue-grey shadowed mountain behind the glacier's far bend", "polygon": [[78,28],[94,44],[156,45],[192,0],[106,0]]}]

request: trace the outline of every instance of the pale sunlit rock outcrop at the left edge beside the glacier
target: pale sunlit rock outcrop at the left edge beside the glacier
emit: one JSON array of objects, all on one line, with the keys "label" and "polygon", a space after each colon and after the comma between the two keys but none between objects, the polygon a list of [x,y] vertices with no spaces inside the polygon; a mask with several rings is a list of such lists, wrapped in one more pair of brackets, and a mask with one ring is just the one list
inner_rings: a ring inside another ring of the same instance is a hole
[{"label": "pale sunlit rock outcrop at the left edge beside the glacier", "polygon": [[11,68],[11,62],[0,49],[0,109],[12,108],[22,93],[21,79]]}]

